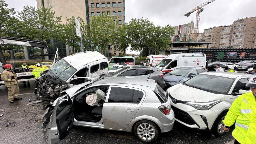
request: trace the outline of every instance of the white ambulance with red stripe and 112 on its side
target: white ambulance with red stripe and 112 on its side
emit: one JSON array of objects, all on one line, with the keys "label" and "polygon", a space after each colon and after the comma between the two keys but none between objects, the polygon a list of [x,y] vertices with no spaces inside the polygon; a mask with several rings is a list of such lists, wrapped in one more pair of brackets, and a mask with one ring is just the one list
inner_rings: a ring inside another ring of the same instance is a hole
[{"label": "white ambulance with red stripe and 112 on its side", "polygon": [[171,54],[154,67],[159,68],[158,71],[163,74],[180,67],[198,67],[205,69],[206,56],[205,54]]}]

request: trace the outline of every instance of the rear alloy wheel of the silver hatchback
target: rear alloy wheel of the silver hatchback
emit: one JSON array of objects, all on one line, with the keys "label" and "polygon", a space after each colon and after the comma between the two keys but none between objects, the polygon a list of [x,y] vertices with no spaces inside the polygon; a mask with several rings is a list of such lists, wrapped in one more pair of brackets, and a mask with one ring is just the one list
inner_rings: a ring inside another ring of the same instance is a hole
[{"label": "rear alloy wheel of the silver hatchback", "polygon": [[157,125],[149,120],[141,120],[137,122],[134,126],[133,133],[143,142],[153,142],[159,136]]}]

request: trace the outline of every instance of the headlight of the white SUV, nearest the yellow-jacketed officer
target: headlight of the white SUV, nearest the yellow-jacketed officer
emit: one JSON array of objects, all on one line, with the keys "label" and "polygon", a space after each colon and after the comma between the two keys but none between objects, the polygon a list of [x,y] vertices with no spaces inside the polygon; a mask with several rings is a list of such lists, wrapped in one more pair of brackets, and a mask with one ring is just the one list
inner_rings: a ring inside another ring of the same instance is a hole
[{"label": "headlight of the white SUV, nearest the yellow-jacketed officer", "polygon": [[209,110],[214,105],[222,102],[221,100],[214,100],[209,102],[187,102],[185,104],[190,105],[198,110]]}]

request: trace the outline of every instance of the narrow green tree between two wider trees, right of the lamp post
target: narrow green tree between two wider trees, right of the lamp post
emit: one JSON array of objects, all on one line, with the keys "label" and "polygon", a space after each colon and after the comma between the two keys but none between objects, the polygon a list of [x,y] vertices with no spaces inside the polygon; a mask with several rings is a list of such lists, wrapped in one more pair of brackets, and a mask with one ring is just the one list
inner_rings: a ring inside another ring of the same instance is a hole
[{"label": "narrow green tree between two wider trees, right of the lamp post", "polygon": [[127,31],[128,25],[126,23],[122,24],[122,26],[117,27],[117,50],[123,52],[123,54],[125,54],[128,46],[130,46],[130,39]]}]

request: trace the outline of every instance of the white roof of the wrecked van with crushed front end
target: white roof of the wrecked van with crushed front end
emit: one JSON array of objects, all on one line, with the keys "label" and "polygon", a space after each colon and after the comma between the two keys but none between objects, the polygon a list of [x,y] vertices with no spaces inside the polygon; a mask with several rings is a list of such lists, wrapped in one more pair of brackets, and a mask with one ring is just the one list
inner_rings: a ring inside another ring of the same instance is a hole
[{"label": "white roof of the wrecked van with crushed front end", "polygon": [[64,57],[63,59],[77,69],[83,65],[86,65],[88,63],[94,62],[96,60],[104,59],[104,58],[107,59],[104,55],[100,54],[99,52],[87,51],[87,52],[76,53],[76,54]]}]

